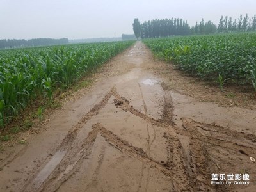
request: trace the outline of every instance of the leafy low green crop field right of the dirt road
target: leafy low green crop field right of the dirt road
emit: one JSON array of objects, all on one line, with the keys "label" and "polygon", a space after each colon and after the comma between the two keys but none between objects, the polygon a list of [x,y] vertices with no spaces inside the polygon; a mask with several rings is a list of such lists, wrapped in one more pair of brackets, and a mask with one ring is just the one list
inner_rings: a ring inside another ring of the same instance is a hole
[{"label": "leafy low green crop field right of the dirt road", "polygon": [[210,80],[230,78],[239,84],[254,83],[255,86],[256,33],[183,36],[143,42],[154,55],[188,74]]}]

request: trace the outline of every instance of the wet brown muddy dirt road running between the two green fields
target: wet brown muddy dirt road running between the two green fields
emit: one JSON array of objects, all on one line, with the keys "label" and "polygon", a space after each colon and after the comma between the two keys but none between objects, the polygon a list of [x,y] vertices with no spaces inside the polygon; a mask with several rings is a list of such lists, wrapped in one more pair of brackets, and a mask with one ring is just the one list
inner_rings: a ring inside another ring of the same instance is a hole
[{"label": "wet brown muddy dirt road running between the two green fields", "polygon": [[256,191],[255,110],[168,90],[141,42],[111,62],[112,77],[0,154],[0,191]]}]

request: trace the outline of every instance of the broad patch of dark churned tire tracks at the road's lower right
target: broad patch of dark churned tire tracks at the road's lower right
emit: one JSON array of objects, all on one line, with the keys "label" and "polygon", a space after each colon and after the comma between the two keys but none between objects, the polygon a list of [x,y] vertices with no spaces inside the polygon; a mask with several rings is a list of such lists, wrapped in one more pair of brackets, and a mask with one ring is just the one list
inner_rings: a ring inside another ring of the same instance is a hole
[{"label": "broad patch of dark churned tire tracks at the road's lower right", "polygon": [[[253,170],[252,164],[242,163],[238,158],[240,156],[241,159],[241,156],[244,156],[242,152],[256,156],[256,145],[253,143],[255,136],[252,134],[241,135],[241,132],[231,131],[216,124],[195,122],[189,118],[182,118],[182,123],[186,131],[179,130],[178,132],[189,133],[190,154],[184,155],[191,178],[189,183],[191,186],[198,186],[197,190],[232,191],[234,186],[227,188],[226,185],[211,185],[211,174],[234,173],[232,164],[234,166],[243,164],[243,167]],[[223,152],[220,153],[218,149],[225,150],[226,155],[223,156]],[[229,158],[234,154],[237,158],[232,159],[232,163],[230,163]],[[196,180],[192,178],[196,178]]]}]

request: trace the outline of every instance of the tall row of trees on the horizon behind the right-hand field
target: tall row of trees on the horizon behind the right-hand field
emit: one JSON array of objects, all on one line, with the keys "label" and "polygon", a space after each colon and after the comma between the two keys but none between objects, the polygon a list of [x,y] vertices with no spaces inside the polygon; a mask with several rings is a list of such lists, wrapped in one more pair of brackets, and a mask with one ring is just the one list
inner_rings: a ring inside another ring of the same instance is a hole
[{"label": "tall row of trees on the horizon behind the right-hand field", "polygon": [[221,16],[218,26],[210,20],[202,19],[195,26],[189,26],[188,22],[180,18],[153,19],[140,23],[138,18],[132,24],[136,38],[159,38],[173,35],[205,35],[212,33],[231,33],[256,31],[256,15],[252,18],[246,14],[238,19]]}]

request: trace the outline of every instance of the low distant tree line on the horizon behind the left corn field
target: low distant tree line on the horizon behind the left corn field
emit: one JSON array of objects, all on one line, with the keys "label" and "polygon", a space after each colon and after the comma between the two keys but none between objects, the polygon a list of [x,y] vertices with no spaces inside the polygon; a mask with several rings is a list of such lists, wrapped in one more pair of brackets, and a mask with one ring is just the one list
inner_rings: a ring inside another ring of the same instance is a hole
[{"label": "low distant tree line on the horizon behind the left corn field", "polygon": [[20,47],[38,47],[46,45],[63,45],[68,44],[67,38],[52,39],[52,38],[33,38],[30,40],[3,39],[0,40],[0,49],[12,49]]}]

